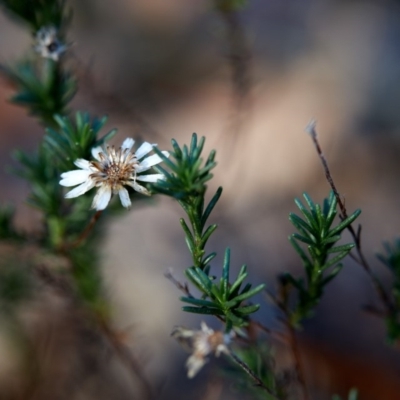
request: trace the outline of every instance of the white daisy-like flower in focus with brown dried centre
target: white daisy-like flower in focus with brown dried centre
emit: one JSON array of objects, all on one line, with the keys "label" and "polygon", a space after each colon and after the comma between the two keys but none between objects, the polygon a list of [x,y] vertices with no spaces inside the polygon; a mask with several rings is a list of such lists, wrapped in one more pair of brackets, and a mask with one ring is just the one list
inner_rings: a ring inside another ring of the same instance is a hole
[{"label": "white daisy-like flower in focus with brown dried centre", "polygon": [[[159,179],[163,179],[163,174],[139,175],[162,162],[162,159],[157,154],[143,158],[153,150],[155,144],[144,142],[136,153],[133,153],[131,149],[134,143],[133,139],[127,138],[118,150],[114,146],[107,146],[105,149],[100,146],[95,147],[92,149],[92,155],[96,161],[76,160],[74,164],[80,169],[61,174],[60,185],[67,187],[79,185],[69,191],[65,197],[67,199],[78,197],[90,189],[98,187],[92,208],[99,211],[104,210],[110,202],[111,196],[117,193],[122,205],[129,208],[131,200],[124,186],[131,186],[137,192],[149,196],[149,191],[136,181],[157,182]],[[162,153],[166,157],[169,156],[167,151]]]}]

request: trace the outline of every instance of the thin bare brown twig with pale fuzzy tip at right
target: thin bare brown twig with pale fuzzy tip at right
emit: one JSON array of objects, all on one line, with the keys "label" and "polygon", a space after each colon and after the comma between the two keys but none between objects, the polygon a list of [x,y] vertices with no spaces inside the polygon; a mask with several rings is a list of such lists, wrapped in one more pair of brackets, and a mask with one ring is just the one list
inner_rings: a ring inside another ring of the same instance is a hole
[{"label": "thin bare brown twig with pale fuzzy tip at right", "polygon": [[[340,212],[341,212],[341,214],[339,216],[340,216],[340,218],[342,220],[345,220],[348,217],[346,206],[345,206],[344,202],[342,201],[338,190],[336,189],[335,182],[333,181],[331,172],[330,172],[329,167],[328,167],[328,162],[327,162],[324,154],[322,153],[321,146],[319,145],[319,142],[318,142],[318,139],[317,139],[317,132],[315,130],[315,125],[316,125],[316,122],[314,120],[311,121],[307,125],[306,131],[311,136],[311,139],[312,139],[312,141],[314,143],[314,146],[315,146],[315,148],[317,150],[318,156],[319,156],[319,158],[321,160],[321,163],[322,163],[322,166],[324,168],[326,180],[328,181],[330,187],[332,188],[332,191],[333,191],[333,193],[334,193],[334,195],[336,197],[336,201],[339,204],[339,208],[340,208]],[[361,265],[364,268],[365,272],[370,277],[370,279],[372,281],[372,284],[373,284],[373,286],[375,288],[375,291],[377,292],[381,302],[385,306],[387,313],[390,314],[393,311],[393,305],[392,305],[391,301],[389,300],[389,297],[388,297],[385,289],[383,288],[381,282],[376,277],[376,275],[372,272],[372,269],[369,266],[368,261],[365,258],[364,253],[362,252],[362,249],[361,249],[361,226],[358,227],[357,232],[354,230],[352,225],[348,225],[347,229],[349,230],[349,232],[350,232],[350,234],[351,234],[351,236],[352,236],[352,238],[354,240],[354,243],[356,245],[357,255],[358,255],[358,258],[354,257],[354,256],[352,258],[359,265]]]}]

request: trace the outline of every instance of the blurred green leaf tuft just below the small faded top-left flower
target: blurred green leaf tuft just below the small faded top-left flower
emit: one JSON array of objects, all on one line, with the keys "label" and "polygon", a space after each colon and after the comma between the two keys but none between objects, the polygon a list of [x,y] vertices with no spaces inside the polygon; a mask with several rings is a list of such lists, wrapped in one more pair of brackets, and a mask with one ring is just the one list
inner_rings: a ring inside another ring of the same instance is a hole
[{"label": "blurred green leaf tuft just below the small faded top-left flower", "polygon": [[14,67],[0,66],[0,72],[16,86],[17,94],[10,101],[26,107],[45,125],[54,125],[54,115],[68,112],[76,81],[72,74],[61,70],[59,63],[49,59],[22,61]]}]

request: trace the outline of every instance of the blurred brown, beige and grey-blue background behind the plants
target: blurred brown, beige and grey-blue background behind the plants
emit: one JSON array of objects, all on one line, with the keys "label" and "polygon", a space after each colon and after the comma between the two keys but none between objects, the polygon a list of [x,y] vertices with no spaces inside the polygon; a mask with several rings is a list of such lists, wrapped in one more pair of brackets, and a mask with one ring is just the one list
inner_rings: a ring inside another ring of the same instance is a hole
[{"label": "blurred brown, beige and grey-blue background behind the plants", "polygon": [[[210,191],[223,186],[224,194],[210,250],[221,255],[230,246],[234,270],[246,263],[251,281],[266,282],[272,291],[280,272],[301,273],[287,240],[293,232],[288,213],[296,211],[293,199],[303,191],[316,201],[329,192],[304,131],[315,118],[346,207],[363,211],[365,253],[390,284],[374,254],[400,231],[400,2],[250,0],[233,22],[206,0],[69,3],[69,63],[80,80],[74,108],[109,115],[107,126],[119,131],[116,144],[131,136],[168,149],[171,138],[188,143],[197,132],[206,136],[208,151],[217,150]],[[26,30],[0,11],[1,62],[11,63],[30,46]],[[0,201],[17,205],[18,226],[34,231],[38,216],[25,204],[28,187],[6,167],[15,166],[13,149],[34,149],[43,131],[7,102],[12,94],[0,81]],[[187,354],[170,337],[175,325],[198,329],[202,320],[181,312],[181,294],[164,277],[172,268],[183,281],[190,264],[181,216],[177,204],[159,199],[133,207],[107,228],[102,266],[115,324],[157,398],[241,398],[218,378],[221,360],[189,381]],[[279,328],[268,299],[259,301],[257,318]],[[27,312],[40,351],[61,353],[47,366],[55,380],[65,365],[77,363],[76,338],[68,333],[74,319],[59,303],[33,304]],[[362,311],[365,305],[379,307],[379,300],[364,271],[348,259],[299,335],[314,400],[344,396],[351,387],[361,400],[399,398],[400,356],[385,344],[382,321]],[[217,321],[205,320],[218,328]],[[7,387],[18,381],[18,362],[3,342],[0,387]],[[290,359],[284,349],[277,357]],[[63,367],[53,368],[60,360]],[[121,367],[115,366],[112,379],[104,367],[93,368],[96,377],[78,385],[76,398],[132,398],[135,388]]]}]

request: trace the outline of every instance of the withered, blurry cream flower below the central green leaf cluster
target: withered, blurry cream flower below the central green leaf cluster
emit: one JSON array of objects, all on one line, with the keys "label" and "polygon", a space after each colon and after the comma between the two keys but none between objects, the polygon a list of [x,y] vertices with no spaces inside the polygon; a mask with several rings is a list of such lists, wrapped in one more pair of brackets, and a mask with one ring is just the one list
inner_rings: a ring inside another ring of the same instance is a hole
[{"label": "withered, blurry cream flower below the central green leaf cluster", "polygon": [[[232,333],[233,334],[233,333]],[[205,322],[201,323],[201,330],[194,331],[181,326],[175,327],[172,336],[192,355],[186,361],[188,378],[193,378],[208,361],[207,356],[214,353],[217,357],[221,353],[229,354],[228,345],[232,334],[214,331]]]}]

